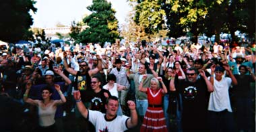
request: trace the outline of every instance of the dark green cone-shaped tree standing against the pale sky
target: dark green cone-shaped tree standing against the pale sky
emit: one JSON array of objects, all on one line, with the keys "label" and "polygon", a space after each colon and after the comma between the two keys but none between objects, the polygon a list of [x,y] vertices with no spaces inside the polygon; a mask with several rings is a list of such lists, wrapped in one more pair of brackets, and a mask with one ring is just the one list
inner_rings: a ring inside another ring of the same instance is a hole
[{"label": "dark green cone-shaped tree standing against the pale sky", "polygon": [[92,11],[83,19],[88,27],[79,34],[79,42],[83,43],[114,43],[119,38],[116,11],[111,8],[111,3],[106,0],[93,0],[87,9]]}]

